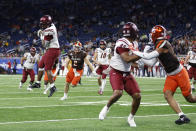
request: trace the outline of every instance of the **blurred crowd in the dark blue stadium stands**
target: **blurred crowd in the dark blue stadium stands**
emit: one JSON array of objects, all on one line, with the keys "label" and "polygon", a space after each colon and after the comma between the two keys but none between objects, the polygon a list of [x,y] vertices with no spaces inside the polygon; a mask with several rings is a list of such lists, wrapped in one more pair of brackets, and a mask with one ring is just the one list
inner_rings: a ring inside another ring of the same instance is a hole
[{"label": "blurred crowd in the dark blue stadium stands", "polygon": [[0,57],[20,57],[31,46],[43,53],[37,30],[39,18],[45,14],[57,26],[62,54],[76,40],[89,54],[103,38],[112,48],[127,21],[140,29],[141,50],[152,26],[161,24],[168,30],[176,54],[186,54],[196,40],[195,4],[194,0],[2,0]]}]

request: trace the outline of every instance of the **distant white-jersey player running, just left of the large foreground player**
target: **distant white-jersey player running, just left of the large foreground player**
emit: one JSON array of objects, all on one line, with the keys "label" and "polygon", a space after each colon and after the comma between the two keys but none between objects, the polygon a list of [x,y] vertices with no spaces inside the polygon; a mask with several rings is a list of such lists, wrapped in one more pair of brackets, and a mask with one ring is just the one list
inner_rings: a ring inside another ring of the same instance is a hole
[{"label": "distant white-jersey player running, just left of the large foreground player", "polygon": [[99,91],[98,94],[102,95],[106,85],[106,74],[103,73],[105,69],[109,67],[109,61],[111,59],[111,49],[106,48],[106,41],[101,40],[99,42],[100,47],[95,50],[94,62],[97,64],[96,73],[98,76]]}]

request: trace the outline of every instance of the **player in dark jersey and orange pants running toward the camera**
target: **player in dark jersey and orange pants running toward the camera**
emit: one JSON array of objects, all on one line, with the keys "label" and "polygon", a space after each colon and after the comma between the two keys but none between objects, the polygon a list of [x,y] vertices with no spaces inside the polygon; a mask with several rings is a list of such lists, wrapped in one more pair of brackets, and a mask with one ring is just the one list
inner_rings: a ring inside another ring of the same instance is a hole
[{"label": "player in dark jersey and orange pants running toward the camera", "polygon": [[65,67],[68,66],[68,63],[70,63],[70,61],[72,65],[66,76],[64,96],[60,100],[67,99],[70,84],[72,85],[72,87],[77,86],[83,74],[84,62],[90,67],[91,71],[94,73],[93,66],[86,57],[86,52],[84,52],[81,49],[82,44],[79,41],[77,41],[73,45],[73,50],[68,52],[68,58],[66,59]]}]

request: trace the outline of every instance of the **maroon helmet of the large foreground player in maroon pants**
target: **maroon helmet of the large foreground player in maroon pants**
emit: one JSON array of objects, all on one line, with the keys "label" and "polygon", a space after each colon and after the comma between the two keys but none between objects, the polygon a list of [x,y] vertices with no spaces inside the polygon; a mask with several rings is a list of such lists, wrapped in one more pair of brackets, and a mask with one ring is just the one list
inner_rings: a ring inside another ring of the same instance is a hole
[{"label": "maroon helmet of the large foreground player in maroon pants", "polygon": [[134,40],[138,37],[138,32],[139,30],[133,22],[127,22],[122,29],[124,37],[130,37]]}]

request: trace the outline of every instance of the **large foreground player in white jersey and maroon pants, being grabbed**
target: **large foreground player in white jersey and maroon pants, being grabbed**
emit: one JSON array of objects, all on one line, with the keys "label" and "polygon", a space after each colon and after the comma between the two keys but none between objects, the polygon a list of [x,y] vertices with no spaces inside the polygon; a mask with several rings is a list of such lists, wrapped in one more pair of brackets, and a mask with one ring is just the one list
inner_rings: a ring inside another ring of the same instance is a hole
[{"label": "large foreground player in white jersey and maroon pants, being grabbed", "polygon": [[131,63],[135,63],[140,57],[133,55],[129,47],[133,46],[134,49],[138,47],[134,41],[138,37],[138,28],[132,23],[128,22],[122,29],[123,38],[117,40],[114,56],[111,58],[110,67],[110,83],[113,89],[113,94],[108,103],[102,108],[99,113],[99,119],[103,120],[106,117],[110,107],[118,101],[125,90],[132,98],[132,109],[128,116],[128,123],[130,127],[136,127],[134,115],[136,114],[141,100],[140,89],[135,78],[130,73]]}]

